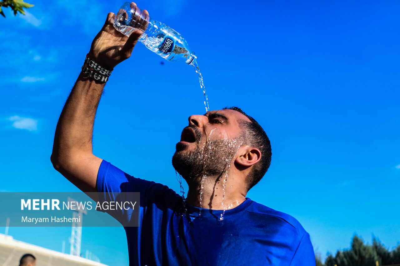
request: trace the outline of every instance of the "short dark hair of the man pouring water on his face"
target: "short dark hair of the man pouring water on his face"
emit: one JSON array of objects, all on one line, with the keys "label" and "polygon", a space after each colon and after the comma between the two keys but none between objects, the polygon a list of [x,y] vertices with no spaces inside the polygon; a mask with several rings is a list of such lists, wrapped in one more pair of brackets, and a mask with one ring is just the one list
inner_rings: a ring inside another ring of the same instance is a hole
[{"label": "short dark hair of the man pouring water on his face", "polygon": [[247,145],[255,147],[261,151],[261,160],[253,166],[252,171],[246,178],[246,182],[249,185],[248,190],[250,190],[262,179],[267,172],[268,167],[270,167],[272,156],[270,139],[268,139],[267,134],[260,124],[258,124],[253,117],[242,111],[242,109],[235,106],[225,107],[224,110],[226,109],[238,111],[250,119],[251,122],[242,121],[240,123],[240,126],[246,129],[246,132],[242,134],[242,137]]}]

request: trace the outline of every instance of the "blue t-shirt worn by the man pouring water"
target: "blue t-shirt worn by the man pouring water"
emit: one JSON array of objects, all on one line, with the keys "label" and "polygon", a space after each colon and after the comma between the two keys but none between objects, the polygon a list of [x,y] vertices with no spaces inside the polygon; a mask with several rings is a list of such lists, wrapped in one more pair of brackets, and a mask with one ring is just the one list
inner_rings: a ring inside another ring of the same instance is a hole
[{"label": "blue t-shirt worn by the man pouring water", "polygon": [[[222,210],[184,206],[172,189],[134,178],[106,161],[97,190],[100,201],[140,192],[139,226],[125,227],[129,265],[315,265],[310,236],[300,223],[248,198],[226,210],[220,221]],[[131,214],[108,213],[121,223]]]}]

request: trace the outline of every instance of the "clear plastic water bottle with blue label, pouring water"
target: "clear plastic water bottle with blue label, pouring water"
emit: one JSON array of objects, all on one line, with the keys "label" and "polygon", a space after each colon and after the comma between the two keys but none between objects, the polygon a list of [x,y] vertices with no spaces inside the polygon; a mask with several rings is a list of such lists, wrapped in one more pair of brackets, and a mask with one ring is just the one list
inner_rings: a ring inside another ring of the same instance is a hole
[{"label": "clear plastic water bottle with blue label, pouring water", "polygon": [[153,20],[140,8],[126,2],[115,16],[114,27],[126,36],[134,29],[143,30],[139,38],[147,48],[172,62],[183,61],[197,67],[196,55],[190,51],[188,43],[175,30],[164,23]]}]

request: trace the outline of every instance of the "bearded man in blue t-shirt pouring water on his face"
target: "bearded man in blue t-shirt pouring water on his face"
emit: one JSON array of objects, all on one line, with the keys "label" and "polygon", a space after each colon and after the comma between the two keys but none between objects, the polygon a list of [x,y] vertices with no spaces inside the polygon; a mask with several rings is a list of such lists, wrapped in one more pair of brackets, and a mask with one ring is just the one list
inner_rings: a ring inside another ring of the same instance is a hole
[{"label": "bearded man in blue t-shirt pouring water on his face", "polygon": [[[123,36],[114,17],[108,14],[85,61],[91,70],[84,67],[65,103],[51,159],[79,189],[98,192],[100,201],[140,192],[139,226],[125,227],[130,265],[315,265],[310,237],[298,221],[246,198],[266,173],[271,151],[264,130],[237,107],[189,117],[172,159],[188,183],[186,201],[93,155],[104,77],[130,57],[142,34]],[[120,222],[131,217],[109,213]]]}]

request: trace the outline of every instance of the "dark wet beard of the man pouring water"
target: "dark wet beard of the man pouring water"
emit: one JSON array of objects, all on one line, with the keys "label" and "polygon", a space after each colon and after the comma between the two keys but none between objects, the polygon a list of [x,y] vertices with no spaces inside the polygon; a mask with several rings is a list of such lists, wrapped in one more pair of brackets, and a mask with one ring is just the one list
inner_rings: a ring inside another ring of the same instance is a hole
[{"label": "dark wet beard of the man pouring water", "polygon": [[[196,139],[200,140],[201,133],[195,126],[192,128]],[[228,169],[239,143],[238,139],[216,139],[207,141],[202,147],[200,143],[196,143],[196,148],[191,151],[184,151],[186,145],[178,143],[172,165],[187,182],[200,179],[204,175],[219,177]]]}]

